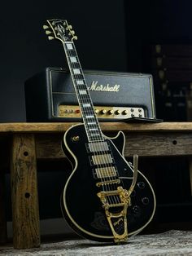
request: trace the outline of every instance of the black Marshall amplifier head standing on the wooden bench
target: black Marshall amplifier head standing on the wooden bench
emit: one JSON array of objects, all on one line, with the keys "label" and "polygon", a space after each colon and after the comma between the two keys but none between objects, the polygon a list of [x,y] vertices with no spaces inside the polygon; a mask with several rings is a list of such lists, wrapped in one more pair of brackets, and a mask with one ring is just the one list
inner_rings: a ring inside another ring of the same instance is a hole
[{"label": "black Marshall amplifier head standing on the wooden bench", "polygon": [[[85,71],[99,121],[155,118],[152,76]],[[46,68],[24,85],[27,121],[81,121],[72,78],[63,68]]]}]

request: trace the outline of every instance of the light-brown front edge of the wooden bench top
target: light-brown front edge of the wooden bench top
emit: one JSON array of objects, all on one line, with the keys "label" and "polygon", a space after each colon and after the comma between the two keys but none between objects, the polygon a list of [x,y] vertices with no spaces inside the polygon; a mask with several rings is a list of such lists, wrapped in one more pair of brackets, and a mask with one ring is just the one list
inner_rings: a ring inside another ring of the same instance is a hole
[{"label": "light-brown front edge of the wooden bench top", "polygon": [[[76,123],[55,122],[55,123],[1,123],[0,134],[10,134],[16,132],[24,133],[63,133]],[[103,131],[125,132],[156,132],[156,131],[191,131],[192,122],[159,122],[159,123],[125,123],[125,122],[101,122]]]}]

